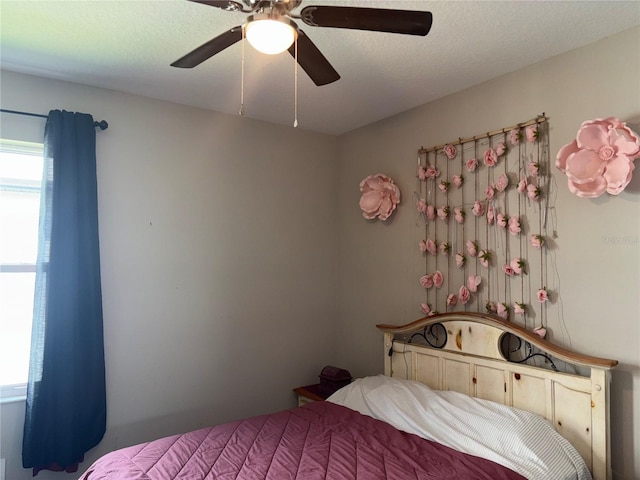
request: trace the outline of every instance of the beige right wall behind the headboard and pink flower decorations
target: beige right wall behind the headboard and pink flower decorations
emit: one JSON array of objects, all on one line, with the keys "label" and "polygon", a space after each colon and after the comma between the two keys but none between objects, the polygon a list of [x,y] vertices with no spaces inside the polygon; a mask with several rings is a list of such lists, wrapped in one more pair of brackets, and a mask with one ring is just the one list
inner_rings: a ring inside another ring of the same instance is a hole
[{"label": "beige right wall behind the headboard and pink flower decorations", "polygon": [[[417,150],[517,124],[545,112],[553,159],[584,120],[618,116],[640,133],[640,29],[560,55],[340,138],[338,358],[355,375],[382,370],[376,323],[421,317],[424,260],[416,228]],[[640,160],[636,161],[640,167]],[[619,196],[581,199],[552,167],[561,302],[549,311],[553,341],[620,361],[613,373],[616,478],[640,478],[640,170]],[[403,205],[388,222],[367,222],[358,184],[394,178]],[[569,335],[562,335],[564,321]],[[359,348],[353,349],[356,343]]]}]

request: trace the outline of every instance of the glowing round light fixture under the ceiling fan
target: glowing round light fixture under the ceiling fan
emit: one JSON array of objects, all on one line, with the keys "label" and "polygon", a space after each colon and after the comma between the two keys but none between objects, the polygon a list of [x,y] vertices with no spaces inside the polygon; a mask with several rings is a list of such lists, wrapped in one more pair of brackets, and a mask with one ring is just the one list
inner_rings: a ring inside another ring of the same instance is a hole
[{"label": "glowing round light fixture under the ceiling fan", "polygon": [[251,15],[245,25],[245,36],[251,46],[267,55],[287,50],[297,34],[296,24],[280,15]]}]

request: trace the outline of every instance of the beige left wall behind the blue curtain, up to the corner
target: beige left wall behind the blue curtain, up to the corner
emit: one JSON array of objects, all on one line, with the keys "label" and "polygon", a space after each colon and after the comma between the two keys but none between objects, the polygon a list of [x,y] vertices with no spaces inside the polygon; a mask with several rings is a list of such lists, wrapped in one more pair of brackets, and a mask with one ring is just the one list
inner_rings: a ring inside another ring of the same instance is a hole
[{"label": "beige left wall behind the blue curtain, up to the corner", "polygon": [[[290,408],[335,360],[336,139],[2,72],[2,107],[91,113],[108,429],[88,456]],[[2,134],[43,122],[2,115]],[[7,478],[24,403],[2,405]],[[38,478],[75,478],[42,472]]]}]

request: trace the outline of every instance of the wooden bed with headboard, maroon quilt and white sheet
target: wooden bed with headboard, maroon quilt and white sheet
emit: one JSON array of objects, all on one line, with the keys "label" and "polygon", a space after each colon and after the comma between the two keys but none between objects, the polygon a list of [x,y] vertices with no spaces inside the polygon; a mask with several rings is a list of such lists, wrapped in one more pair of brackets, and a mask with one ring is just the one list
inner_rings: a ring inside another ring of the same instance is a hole
[{"label": "wooden bed with headboard, maroon quilt and white sheet", "polygon": [[324,402],[116,450],[81,480],[610,478],[615,360],[492,315],[378,328],[384,375]]}]

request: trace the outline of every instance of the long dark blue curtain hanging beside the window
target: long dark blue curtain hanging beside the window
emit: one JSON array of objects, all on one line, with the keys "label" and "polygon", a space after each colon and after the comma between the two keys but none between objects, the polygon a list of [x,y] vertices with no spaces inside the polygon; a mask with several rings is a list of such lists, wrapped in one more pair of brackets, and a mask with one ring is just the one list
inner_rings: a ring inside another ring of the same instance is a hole
[{"label": "long dark blue curtain hanging beside the window", "polygon": [[49,112],[22,465],[76,471],[106,426],[93,117]]}]

